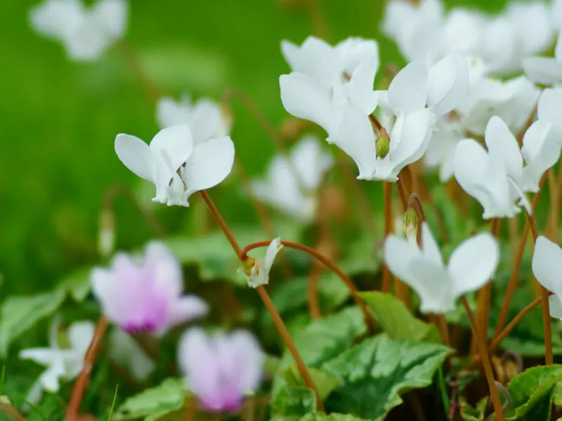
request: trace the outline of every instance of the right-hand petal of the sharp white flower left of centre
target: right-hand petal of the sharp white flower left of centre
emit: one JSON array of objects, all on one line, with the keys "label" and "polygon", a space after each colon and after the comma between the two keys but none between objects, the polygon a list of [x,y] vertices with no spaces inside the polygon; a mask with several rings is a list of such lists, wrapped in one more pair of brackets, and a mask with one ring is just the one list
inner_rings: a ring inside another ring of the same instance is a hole
[{"label": "right-hand petal of the sharp white flower left of centre", "polygon": [[234,143],[230,137],[198,143],[185,164],[183,180],[189,196],[223,182],[234,165]]}]

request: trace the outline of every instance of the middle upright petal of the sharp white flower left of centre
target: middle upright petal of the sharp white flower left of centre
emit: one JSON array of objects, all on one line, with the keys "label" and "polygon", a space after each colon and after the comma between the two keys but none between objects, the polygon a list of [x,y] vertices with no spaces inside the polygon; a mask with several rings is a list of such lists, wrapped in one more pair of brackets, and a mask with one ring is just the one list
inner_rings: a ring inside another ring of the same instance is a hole
[{"label": "middle upright petal of the sharp white flower left of centre", "polygon": [[164,156],[172,172],[176,172],[188,160],[193,150],[191,129],[186,124],[163,128],[150,142],[152,153]]}]

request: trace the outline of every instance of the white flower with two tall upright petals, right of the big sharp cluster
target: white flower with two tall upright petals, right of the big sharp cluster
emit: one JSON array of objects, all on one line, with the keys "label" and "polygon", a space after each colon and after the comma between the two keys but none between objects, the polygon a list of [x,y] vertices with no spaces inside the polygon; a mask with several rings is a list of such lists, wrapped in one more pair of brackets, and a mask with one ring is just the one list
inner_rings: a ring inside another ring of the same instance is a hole
[{"label": "white flower with two tall upright petals, right of the big sharp cluster", "polygon": [[466,193],[484,208],[485,219],[511,218],[519,212],[515,202],[530,213],[523,191],[523,156],[506,124],[497,116],[485,131],[488,152],[473,139],[464,139],[455,149],[455,178]]}]

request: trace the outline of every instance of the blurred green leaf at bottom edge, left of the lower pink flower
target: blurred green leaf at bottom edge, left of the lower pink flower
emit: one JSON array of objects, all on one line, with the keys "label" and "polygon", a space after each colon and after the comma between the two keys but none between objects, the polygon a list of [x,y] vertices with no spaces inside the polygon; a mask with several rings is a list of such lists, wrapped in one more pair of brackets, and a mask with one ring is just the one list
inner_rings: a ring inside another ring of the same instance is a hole
[{"label": "blurred green leaf at bottom edge, left of the lower pink flower", "polygon": [[184,387],[183,379],[166,379],[157,387],[127,399],[117,409],[113,419],[136,420],[144,417],[147,421],[158,420],[183,407],[186,400]]}]

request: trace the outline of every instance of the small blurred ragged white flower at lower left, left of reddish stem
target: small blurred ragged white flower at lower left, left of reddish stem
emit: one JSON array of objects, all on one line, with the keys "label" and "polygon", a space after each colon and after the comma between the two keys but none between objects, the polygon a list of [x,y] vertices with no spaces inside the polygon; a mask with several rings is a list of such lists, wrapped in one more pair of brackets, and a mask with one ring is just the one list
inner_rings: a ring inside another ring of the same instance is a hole
[{"label": "small blurred ragged white flower at lower left, left of reddish stem", "polygon": [[27,401],[35,404],[41,399],[42,391],[55,393],[60,387],[60,380],[72,380],[80,373],[84,365],[86,351],[93,338],[95,326],[90,321],[72,323],[67,329],[70,347],[58,345],[60,322],[55,320],[51,326],[48,348],[28,348],[20,351],[20,359],[30,359],[47,369],[32,386]]}]

